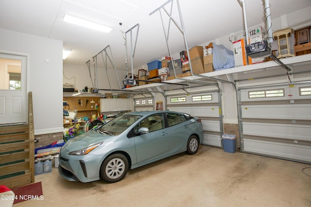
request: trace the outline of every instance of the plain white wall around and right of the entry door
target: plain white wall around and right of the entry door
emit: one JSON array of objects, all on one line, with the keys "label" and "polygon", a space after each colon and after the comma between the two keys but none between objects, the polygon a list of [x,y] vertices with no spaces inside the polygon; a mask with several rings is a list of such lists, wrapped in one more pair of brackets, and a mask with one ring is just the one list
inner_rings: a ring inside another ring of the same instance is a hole
[{"label": "plain white wall around and right of the entry door", "polygon": [[28,56],[27,92],[33,93],[35,135],[63,131],[63,42],[0,29],[1,51]]}]

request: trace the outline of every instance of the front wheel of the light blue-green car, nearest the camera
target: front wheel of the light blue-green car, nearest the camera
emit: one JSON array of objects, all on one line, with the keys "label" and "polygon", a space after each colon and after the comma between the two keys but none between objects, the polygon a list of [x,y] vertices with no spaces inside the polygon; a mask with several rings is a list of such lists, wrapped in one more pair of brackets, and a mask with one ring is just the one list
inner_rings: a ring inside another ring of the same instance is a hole
[{"label": "front wheel of the light blue-green car, nearest the camera", "polygon": [[128,171],[128,160],[122,154],[113,154],[106,158],[101,166],[101,175],[105,182],[118,182]]}]

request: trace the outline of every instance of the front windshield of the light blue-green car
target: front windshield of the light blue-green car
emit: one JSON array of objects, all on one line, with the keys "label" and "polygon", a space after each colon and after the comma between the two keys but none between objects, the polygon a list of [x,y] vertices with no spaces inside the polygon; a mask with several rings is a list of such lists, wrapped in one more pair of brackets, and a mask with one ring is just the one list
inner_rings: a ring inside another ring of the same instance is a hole
[{"label": "front windshield of the light blue-green car", "polygon": [[128,127],[134,124],[141,116],[133,114],[123,114],[110,122],[104,124],[99,130],[99,133],[116,136],[125,131]]}]

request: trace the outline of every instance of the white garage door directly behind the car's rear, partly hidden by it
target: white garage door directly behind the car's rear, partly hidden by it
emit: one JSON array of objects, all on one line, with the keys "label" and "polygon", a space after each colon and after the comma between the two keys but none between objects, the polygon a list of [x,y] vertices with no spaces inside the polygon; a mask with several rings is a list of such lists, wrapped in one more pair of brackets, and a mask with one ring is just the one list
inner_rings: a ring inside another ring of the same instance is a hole
[{"label": "white garage door directly behind the car's rear, partly hidden by it", "polygon": [[201,118],[204,129],[203,144],[222,147],[223,119],[218,91],[167,95],[167,109]]}]

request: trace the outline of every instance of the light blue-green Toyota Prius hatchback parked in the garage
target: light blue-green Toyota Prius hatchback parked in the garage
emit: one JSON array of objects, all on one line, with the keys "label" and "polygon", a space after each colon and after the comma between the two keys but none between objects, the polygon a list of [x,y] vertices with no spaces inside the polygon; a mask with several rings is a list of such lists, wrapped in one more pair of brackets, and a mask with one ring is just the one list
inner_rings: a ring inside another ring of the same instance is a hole
[{"label": "light blue-green Toyota Prius hatchback parked in the garage", "polygon": [[173,111],[125,113],[70,139],[60,150],[58,171],[69,181],[118,182],[134,169],[203,142],[201,119]]}]

